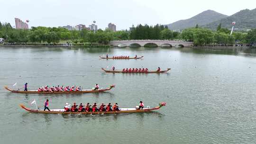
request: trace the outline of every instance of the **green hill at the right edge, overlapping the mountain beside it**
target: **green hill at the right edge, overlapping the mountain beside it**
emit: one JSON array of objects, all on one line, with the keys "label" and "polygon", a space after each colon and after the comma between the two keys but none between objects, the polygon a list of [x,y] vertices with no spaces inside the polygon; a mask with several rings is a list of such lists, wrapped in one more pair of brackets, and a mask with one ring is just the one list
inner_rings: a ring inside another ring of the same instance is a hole
[{"label": "green hill at the right edge, overlapping the mountain beside it", "polygon": [[244,9],[229,17],[221,18],[202,27],[207,27],[215,30],[217,29],[219,23],[221,23],[221,27],[231,28],[231,23],[233,21],[236,22],[235,28],[238,29],[256,28],[256,9]]}]

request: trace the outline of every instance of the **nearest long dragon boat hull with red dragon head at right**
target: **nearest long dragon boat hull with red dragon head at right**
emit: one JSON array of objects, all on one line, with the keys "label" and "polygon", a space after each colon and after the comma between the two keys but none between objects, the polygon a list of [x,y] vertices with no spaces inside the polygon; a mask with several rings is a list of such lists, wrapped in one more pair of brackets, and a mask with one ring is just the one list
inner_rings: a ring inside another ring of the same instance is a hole
[{"label": "nearest long dragon boat hull with red dragon head at right", "polygon": [[[119,108],[119,111],[102,111],[102,112],[93,112],[93,114],[117,114],[117,113],[141,113],[141,112],[149,112],[152,110],[157,110],[163,106],[165,106],[166,103],[162,102],[159,103],[159,106],[155,107],[155,108],[143,108],[143,109],[137,109],[137,108]],[[19,105],[21,108],[29,111],[29,112],[33,112],[33,113],[50,113],[50,114],[92,114],[92,112],[67,112],[64,111],[64,108],[60,108],[60,109],[50,109],[50,111],[48,110],[44,110],[44,109],[30,109],[25,107],[23,104]]]}]

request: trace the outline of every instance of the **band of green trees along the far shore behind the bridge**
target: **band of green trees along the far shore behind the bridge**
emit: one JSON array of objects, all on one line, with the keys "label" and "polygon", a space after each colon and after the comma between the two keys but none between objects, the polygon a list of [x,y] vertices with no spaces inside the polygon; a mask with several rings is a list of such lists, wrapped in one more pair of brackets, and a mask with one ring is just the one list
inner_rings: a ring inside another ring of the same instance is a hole
[{"label": "band of green trees along the far shore behind the bridge", "polygon": [[15,29],[9,23],[0,23],[0,38],[4,38],[1,45],[63,45],[63,46],[99,46],[109,47],[112,40],[129,39],[157,39],[184,40],[193,42],[194,46],[256,46],[256,29],[250,31],[233,32],[217,27],[216,31],[198,27],[174,32],[163,25],[132,27],[128,30],[93,31],[82,29],[68,30],[61,27],[31,27],[31,29]]}]

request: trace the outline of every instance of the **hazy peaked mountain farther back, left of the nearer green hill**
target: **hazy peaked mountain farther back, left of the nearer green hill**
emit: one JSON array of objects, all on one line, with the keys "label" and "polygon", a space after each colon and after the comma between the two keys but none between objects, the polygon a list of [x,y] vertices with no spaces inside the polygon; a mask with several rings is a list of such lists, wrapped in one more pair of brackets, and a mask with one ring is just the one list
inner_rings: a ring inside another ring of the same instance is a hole
[{"label": "hazy peaked mountain farther back, left of the nearer green hill", "polygon": [[226,18],[226,17],[228,17],[228,16],[218,13],[216,11],[206,10],[192,18],[179,20],[179,21],[176,21],[172,24],[168,24],[165,26],[168,26],[169,29],[171,29],[171,30],[185,29],[185,28],[189,28],[189,27],[195,27],[196,24],[198,24],[199,26],[206,25],[206,24],[209,24],[211,22],[214,22],[221,18]]}]

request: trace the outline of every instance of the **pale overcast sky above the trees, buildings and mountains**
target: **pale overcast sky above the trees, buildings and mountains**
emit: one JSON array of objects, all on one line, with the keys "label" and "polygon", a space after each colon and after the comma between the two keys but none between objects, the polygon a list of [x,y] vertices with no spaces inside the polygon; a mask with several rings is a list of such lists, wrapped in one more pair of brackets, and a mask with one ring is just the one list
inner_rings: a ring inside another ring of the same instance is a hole
[{"label": "pale overcast sky above the trees, buildings and mountains", "polygon": [[58,27],[96,21],[98,28],[108,23],[117,30],[132,24],[169,24],[191,18],[204,10],[232,15],[241,9],[255,9],[256,0],[0,0],[0,22],[15,26],[14,18],[29,27]]}]

